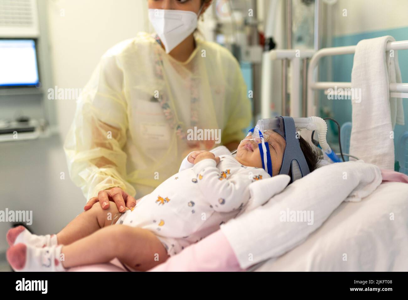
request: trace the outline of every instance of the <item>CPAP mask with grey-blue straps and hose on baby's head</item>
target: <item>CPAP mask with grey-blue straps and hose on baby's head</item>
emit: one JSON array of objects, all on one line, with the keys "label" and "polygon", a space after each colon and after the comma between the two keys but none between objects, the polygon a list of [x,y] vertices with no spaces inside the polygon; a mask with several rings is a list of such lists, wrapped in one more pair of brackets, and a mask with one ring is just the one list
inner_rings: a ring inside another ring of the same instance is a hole
[{"label": "CPAP mask with grey-blue straps and hose on baby's head", "polygon": [[[292,182],[310,173],[306,159],[300,149],[299,135],[296,130],[315,130],[319,135],[319,144],[323,152],[334,162],[340,162],[337,155],[331,150],[326,141],[327,124],[319,117],[292,118],[276,117],[273,119],[260,119],[256,126],[249,130],[247,138],[258,143],[262,159],[262,168],[272,176],[272,161],[269,153],[268,130],[273,130],[286,141],[282,166],[279,174],[288,174],[291,168]],[[252,135],[251,138],[248,138]]]}]

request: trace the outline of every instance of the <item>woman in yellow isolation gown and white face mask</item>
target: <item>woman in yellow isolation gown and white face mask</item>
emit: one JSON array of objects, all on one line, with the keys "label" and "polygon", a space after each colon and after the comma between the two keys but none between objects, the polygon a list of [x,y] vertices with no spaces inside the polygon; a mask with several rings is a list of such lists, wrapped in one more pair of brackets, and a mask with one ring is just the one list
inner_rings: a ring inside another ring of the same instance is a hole
[{"label": "woman in yellow isolation gown and white face mask", "polygon": [[[156,33],[107,51],[78,99],[64,148],[70,176],[89,199],[85,210],[114,201],[124,212],[135,195],[175,174],[188,153],[221,144],[236,149],[250,123],[237,60],[194,35],[211,0],[148,3]],[[188,135],[199,129],[214,135]]]}]

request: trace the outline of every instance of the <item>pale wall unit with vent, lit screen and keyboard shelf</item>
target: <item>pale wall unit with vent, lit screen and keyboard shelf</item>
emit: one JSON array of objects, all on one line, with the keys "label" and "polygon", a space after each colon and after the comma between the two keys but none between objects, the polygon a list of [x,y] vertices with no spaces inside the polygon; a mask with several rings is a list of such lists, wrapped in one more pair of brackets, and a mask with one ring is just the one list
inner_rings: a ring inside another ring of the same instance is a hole
[{"label": "pale wall unit with vent, lit screen and keyboard shelf", "polygon": [[47,137],[56,128],[46,93],[53,86],[47,7],[0,0],[0,142]]}]

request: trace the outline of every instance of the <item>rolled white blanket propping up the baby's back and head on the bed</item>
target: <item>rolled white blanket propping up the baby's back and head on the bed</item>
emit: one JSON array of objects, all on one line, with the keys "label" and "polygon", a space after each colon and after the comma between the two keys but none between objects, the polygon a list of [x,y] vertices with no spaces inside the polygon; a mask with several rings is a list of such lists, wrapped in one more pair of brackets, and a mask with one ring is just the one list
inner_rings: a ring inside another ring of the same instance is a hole
[{"label": "rolled white blanket propping up the baby's back and head on the bed", "polygon": [[290,251],[319,228],[341,202],[361,201],[381,181],[381,171],[375,165],[333,163],[295,181],[266,204],[228,221],[221,230],[245,269]]}]

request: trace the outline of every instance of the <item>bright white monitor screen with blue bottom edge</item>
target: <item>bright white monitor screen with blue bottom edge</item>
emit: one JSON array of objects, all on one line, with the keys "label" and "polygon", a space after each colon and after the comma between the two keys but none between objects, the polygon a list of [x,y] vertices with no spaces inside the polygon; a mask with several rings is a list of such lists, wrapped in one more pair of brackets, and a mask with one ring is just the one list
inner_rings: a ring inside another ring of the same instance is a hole
[{"label": "bright white monitor screen with blue bottom edge", "polygon": [[39,82],[35,40],[0,39],[0,88]]}]

